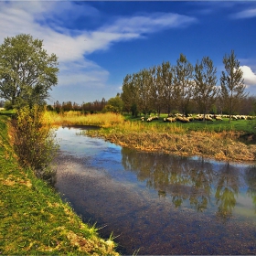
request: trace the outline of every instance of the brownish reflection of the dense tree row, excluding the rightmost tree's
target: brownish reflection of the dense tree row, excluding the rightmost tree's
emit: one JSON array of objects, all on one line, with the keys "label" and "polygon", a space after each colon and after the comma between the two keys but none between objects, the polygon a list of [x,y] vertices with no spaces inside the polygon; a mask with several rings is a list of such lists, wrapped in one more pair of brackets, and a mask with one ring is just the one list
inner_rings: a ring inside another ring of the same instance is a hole
[{"label": "brownish reflection of the dense tree row, excluding the rightmost tree's", "polygon": [[146,181],[147,187],[158,190],[159,197],[170,195],[175,207],[180,207],[187,199],[198,211],[208,207],[213,175],[211,164],[127,148],[123,148],[122,154],[124,169],[135,172],[140,181]]}]

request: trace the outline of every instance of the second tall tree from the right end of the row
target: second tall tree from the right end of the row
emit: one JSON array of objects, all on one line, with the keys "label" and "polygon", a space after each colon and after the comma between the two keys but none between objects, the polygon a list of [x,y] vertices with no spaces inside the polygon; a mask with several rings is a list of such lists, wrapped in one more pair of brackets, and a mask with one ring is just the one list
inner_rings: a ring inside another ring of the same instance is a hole
[{"label": "second tall tree from the right end of the row", "polygon": [[193,94],[200,112],[204,114],[204,120],[218,94],[216,72],[217,69],[214,68],[212,60],[208,57],[204,57],[200,63],[197,61]]}]

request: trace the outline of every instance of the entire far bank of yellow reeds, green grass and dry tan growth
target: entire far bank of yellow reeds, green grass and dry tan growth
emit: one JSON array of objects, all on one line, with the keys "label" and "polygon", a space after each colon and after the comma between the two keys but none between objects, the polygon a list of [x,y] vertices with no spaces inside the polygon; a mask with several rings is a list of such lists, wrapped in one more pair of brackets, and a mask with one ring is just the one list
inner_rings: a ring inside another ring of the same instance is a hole
[{"label": "entire far bank of yellow reeds, green grass and dry tan growth", "polygon": [[[53,116],[51,116],[53,115]],[[57,118],[58,117],[58,118]],[[216,160],[254,161],[254,121],[164,123],[163,117],[152,123],[142,123],[113,113],[65,115],[48,113],[52,123],[64,125],[100,125],[91,136],[100,136],[115,144],[138,150],[174,155],[201,155]],[[63,120],[63,122],[61,121]]]}]

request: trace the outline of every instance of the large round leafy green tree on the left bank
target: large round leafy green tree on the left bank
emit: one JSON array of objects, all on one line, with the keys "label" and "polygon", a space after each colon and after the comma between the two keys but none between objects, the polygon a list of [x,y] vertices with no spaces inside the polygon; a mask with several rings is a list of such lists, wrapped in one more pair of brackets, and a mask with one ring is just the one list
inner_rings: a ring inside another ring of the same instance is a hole
[{"label": "large round leafy green tree on the left bank", "polygon": [[0,97],[13,107],[45,103],[57,85],[58,58],[43,49],[43,40],[21,34],[0,46]]}]

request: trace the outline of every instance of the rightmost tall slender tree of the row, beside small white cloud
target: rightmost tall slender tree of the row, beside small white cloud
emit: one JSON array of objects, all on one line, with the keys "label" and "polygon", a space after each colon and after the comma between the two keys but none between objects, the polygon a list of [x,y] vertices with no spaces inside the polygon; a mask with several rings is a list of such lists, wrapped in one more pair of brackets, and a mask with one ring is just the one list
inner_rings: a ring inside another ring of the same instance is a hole
[{"label": "rightmost tall slender tree of the row, beside small white cloud", "polygon": [[223,64],[226,72],[222,71],[220,77],[221,98],[227,104],[230,123],[231,115],[239,110],[240,101],[247,97],[248,93],[245,93],[245,84],[242,79],[243,72],[240,69],[240,61],[236,59],[234,50],[231,50],[229,56],[224,56]]}]

